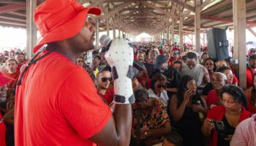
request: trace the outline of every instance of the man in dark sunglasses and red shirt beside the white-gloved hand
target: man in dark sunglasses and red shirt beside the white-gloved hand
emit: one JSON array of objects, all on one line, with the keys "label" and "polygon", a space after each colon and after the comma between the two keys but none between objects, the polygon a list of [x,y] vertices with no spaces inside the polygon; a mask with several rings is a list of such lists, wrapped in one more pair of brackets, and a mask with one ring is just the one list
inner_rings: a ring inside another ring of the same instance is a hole
[{"label": "man in dark sunglasses and red shirt beside the white-gloved hand", "polygon": [[102,65],[97,67],[95,79],[99,96],[102,97],[106,104],[110,105],[113,102],[114,96],[113,88],[109,89],[110,82],[113,80],[110,66]]}]

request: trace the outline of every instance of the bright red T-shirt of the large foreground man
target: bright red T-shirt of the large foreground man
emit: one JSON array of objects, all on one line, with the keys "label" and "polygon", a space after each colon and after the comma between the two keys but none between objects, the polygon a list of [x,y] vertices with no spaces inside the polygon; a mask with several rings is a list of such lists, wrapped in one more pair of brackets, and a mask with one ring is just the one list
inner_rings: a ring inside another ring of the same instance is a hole
[{"label": "bright red T-shirt of the large foreground man", "polygon": [[16,92],[18,146],[94,145],[112,115],[89,74],[55,52],[29,67]]}]

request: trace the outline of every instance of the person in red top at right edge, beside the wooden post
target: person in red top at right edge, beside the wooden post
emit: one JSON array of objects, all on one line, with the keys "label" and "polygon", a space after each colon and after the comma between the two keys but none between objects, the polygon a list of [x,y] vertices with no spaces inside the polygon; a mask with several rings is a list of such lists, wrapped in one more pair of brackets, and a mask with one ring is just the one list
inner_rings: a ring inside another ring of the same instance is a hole
[{"label": "person in red top at right edge, beside the wooden post", "polygon": [[246,88],[252,87],[252,74],[256,72],[256,55],[251,55],[246,67]]}]

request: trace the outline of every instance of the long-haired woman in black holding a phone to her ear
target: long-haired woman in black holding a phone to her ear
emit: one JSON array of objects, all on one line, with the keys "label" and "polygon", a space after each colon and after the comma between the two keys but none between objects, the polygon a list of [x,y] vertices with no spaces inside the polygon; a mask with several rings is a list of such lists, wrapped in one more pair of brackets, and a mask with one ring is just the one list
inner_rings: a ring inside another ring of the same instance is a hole
[{"label": "long-haired woman in black holding a phone to her ear", "polygon": [[192,77],[185,75],[178,85],[178,93],[170,100],[173,126],[181,134],[184,145],[204,145],[200,131],[203,113],[206,113],[206,103],[197,93],[197,83]]}]

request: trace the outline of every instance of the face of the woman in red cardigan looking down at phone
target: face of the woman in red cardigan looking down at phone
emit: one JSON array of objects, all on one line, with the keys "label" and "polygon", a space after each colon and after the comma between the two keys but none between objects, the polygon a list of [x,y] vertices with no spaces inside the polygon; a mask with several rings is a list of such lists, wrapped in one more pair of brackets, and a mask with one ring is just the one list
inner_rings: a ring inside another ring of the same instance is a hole
[{"label": "face of the woman in red cardigan looking down at phone", "polygon": [[229,93],[222,94],[222,104],[227,111],[238,112],[241,108],[241,104],[235,101],[234,97]]}]

